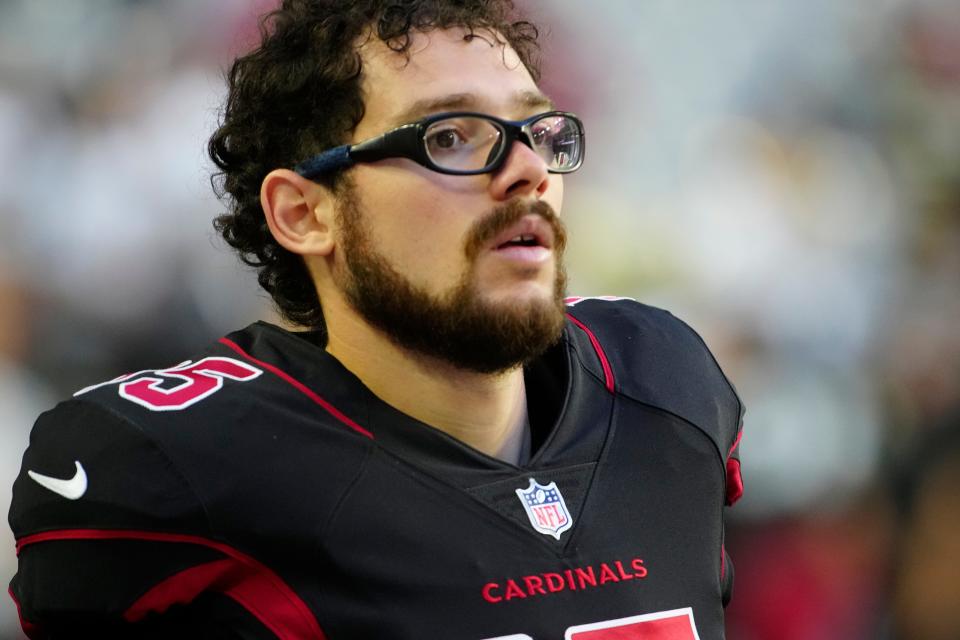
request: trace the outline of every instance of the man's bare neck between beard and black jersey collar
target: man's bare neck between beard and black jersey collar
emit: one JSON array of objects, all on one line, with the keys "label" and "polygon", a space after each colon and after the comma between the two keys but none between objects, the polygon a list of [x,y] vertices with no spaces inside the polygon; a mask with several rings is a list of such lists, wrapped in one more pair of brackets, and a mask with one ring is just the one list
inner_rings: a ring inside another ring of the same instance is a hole
[{"label": "man's bare neck between beard and black jersey collar", "polygon": [[367,388],[420,422],[515,461],[527,420],[522,367],[496,374],[465,371],[404,349],[352,309],[336,307],[324,308],[327,352]]}]

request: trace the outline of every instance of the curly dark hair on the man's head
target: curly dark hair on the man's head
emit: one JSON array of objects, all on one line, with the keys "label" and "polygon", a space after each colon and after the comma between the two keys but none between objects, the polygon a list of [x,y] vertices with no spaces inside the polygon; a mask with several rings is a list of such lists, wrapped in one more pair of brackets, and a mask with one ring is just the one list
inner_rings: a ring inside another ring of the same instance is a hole
[{"label": "curly dark hair on the man's head", "polygon": [[[303,259],[267,227],[260,185],[273,169],[292,168],[346,143],[363,118],[358,53],[364,36],[409,55],[411,33],[461,27],[500,34],[539,79],[538,32],[514,15],[512,0],[284,0],[261,21],[259,48],[234,61],[220,127],[208,152],[219,168],[214,191],[230,210],[214,221],[284,319],[325,328]],[[319,178],[335,193],[342,173]]]}]

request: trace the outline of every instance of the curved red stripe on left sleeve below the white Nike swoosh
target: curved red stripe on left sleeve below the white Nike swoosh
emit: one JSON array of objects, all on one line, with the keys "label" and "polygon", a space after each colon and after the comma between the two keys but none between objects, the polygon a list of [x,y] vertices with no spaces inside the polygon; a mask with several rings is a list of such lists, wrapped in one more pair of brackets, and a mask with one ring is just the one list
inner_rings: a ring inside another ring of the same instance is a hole
[{"label": "curved red stripe on left sleeve below the white Nike swoosh", "polygon": [[195,544],[219,551],[229,558],[187,569],[155,585],[124,614],[128,621],[139,620],[150,611],[162,612],[173,604],[189,602],[201,591],[211,589],[232,598],[280,640],[326,638],[313,612],[280,576],[266,565],[222,542],[180,533],[64,529],[20,538],[17,540],[17,554],[29,545],[54,540],[143,540]]}]

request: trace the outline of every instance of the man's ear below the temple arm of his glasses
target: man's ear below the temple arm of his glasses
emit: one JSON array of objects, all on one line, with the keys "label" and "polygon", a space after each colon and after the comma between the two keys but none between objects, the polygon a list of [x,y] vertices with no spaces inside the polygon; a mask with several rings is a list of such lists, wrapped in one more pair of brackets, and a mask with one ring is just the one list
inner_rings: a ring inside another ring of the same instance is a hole
[{"label": "man's ear below the temple arm of his glasses", "polygon": [[284,249],[302,256],[333,251],[333,194],[289,169],[274,169],[260,185],[260,204],[270,233]]}]

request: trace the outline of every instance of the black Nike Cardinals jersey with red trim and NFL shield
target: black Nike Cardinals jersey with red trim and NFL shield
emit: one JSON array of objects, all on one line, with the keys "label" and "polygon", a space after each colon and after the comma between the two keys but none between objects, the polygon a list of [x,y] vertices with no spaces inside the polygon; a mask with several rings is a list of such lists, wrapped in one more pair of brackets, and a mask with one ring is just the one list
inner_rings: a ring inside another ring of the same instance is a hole
[{"label": "black Nike Cardinals jersey with red trim and NFL shield", "polygon": [[571,299],[532,455],[377,398],[257,323],[43,414],[14,486],[33,639],[724,637],[743,409],[687,325]]}]

